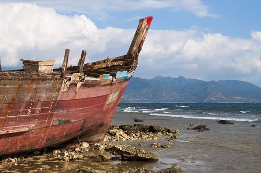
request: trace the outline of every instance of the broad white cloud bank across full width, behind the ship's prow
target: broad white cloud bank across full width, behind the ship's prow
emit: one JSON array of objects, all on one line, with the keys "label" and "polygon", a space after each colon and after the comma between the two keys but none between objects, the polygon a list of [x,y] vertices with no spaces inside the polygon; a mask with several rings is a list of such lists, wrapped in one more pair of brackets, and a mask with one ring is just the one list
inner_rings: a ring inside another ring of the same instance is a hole
[{"label": "broad white cloud bank across full width, behind the ship's prow", "polygon": [[[61,63],[65,48],[71,49],[71,64],[78,63],[83,49],[87,61],[123,55],[135,33],[135,29],[99,29],[84,15],[60,15],[34,4],[2,4],[0,18],[2,66],[17,66],[20,58]],[[253,31],[251,39],[240,39],[196,29],[150,30],[135,75],[248,79],[261,86],[260,33]]]}]

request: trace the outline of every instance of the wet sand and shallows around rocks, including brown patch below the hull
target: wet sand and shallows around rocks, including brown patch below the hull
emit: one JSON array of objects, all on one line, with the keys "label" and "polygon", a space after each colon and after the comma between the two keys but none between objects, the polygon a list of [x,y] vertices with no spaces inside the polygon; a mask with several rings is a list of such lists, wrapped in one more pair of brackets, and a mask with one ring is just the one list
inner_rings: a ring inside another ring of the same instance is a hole
[{"label": "wet sand and shallows around rocks, including brown patch below the hull", "polygon": [[[134,122],[133,118],[144,120]],[[206,125],[210,130],[198,132],[187,130],[190,123]],[[152,148],[150,144],[157,141],[167,144],[169,136],[157,140],[116,141],[129,144],[155,153],[159,161],[121,161],[119,158],[100,163],[85,156],[82,160],[64,162],[52,159],[52,150],[46,154],[27,155],[25,159],[13,164],[0,164],[0,173],[77,173],[78,169],[87,166],[104,171],[126,171],[129,168],[145,168],[159,171],[174,164],[186,173],[260,173],[261,172],[261,122],[234,122],[234,125],[218,124],[213,120],[172,118],[139,113],[116,111],[111,125],[159,125],[178,129],[180,135],[170,148]],[[255,124],[256,127],[250,127]],[[138,144],[142,145],[139,146]],[[90,150],[93,155],[104,151]],[[101,153],[102,152],[102,153]]]}]

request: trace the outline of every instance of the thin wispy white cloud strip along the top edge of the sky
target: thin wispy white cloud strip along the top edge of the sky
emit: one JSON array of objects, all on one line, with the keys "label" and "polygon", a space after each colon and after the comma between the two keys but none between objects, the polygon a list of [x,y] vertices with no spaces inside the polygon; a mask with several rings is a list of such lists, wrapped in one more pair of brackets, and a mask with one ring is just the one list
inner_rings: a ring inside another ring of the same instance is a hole
[{"label": "thin wispy white cloud strip along the top edge of the sky", "polygon": [[61,11],[78,11],[89,14],[100,14],[100,17],[106,18],[109,10],[146,10],[170,8],[173,11],[186,10],[199,17],[211,16],[216,14],[209,12],[209,6],[202,0],[1,0],[2,3],[27,2],[36,3],[45,7],[52,7]]}]

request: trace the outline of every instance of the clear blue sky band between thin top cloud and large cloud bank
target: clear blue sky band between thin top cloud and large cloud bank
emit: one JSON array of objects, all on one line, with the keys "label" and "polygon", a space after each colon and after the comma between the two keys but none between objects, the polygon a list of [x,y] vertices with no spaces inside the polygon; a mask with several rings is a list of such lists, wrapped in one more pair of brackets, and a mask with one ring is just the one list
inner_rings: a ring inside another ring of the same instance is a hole
[{"label": "clear blue sky band between thin top cloud and large cloud bank", "polygon": [[251,38],[252,30],[261,30],[260,0],[203,0],[203,2],[217,17],[198,17],[186,10],[173,11],[171,7],[129,11],[110,10],[107,11],[109,16],[104,21],[99,20],[97,16],[90,15],[89,17],[99,28],[107,26],[135,28],[138,19],[128,19],[153,15],[155,18],[151,29],[155,30],[185,30],[198,26],[198,29],[203,32],[247,39]]}]

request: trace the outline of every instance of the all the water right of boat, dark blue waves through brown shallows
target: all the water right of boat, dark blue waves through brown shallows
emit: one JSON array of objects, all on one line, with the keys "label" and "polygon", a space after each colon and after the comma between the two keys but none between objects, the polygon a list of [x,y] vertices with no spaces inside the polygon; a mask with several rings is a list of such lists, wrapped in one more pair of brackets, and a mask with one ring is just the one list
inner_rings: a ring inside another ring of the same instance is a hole
[{"label": "all the water right of boat, dark blue waves through brown shallows", "polygon": [[[134,122],[134,118],[144,122]],[[220,119],[234,124],[218,124]],[[122,141],[134,146],[142,143],[138,147],[158,156],[157,163],[144,163],[148,170],[177,164],[185,173],[261,173],[261,104],[120,103],[111,124],[159,125],[179,130],[170,148],[151,148],[154,141],[150,140]],[[188,130],[199,125],[210,130]],[[156,141],[167,144],[168,138],[162,136]]]}]

